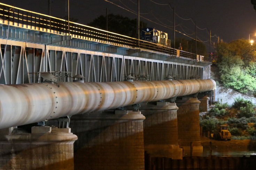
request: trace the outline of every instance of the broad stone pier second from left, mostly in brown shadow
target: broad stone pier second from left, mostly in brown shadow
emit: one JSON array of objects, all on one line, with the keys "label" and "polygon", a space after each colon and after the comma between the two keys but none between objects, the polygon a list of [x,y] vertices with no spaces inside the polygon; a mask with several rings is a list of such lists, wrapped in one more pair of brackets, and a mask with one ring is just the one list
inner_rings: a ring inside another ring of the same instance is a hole
[{"label": "broad stone pier second from left, mostly in brown shadow", "polygon": [[75,169],[144,170],[144,119],[127,110],[72,116]]}]

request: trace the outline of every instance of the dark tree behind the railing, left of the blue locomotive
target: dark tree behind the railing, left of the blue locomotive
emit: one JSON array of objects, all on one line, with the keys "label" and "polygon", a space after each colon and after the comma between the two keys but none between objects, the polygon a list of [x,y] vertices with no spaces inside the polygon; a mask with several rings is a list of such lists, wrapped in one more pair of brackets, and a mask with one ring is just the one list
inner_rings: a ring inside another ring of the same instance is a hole
[{"label": "dark tree behind the railing, left of the blue locomotive", "polygon": [[[88,26],[96,27],[99,29],[107,30],[106,28],[106,16],[99,16],[94,19],[93,22],[88,23]],[[142,27],[147,27],[147,23],[140,21],[140,30]],[[133,38],[138,38],[137,33],[137,19],[129,19],[122,15],[108,15],[108,31],[121,35],[126,35]]]}]

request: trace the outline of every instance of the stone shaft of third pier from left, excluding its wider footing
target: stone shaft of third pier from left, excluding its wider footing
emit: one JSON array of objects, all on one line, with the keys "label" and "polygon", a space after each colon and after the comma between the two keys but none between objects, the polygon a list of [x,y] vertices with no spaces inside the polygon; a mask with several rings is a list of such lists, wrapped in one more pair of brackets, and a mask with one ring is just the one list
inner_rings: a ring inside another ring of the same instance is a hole
[{"label": "stone shaft of third pier from left, excluding its wider footing", "polygon": [[145,145],[178,144],[176,103],[141,105],[139,110],[146,117],[143,121]]}]

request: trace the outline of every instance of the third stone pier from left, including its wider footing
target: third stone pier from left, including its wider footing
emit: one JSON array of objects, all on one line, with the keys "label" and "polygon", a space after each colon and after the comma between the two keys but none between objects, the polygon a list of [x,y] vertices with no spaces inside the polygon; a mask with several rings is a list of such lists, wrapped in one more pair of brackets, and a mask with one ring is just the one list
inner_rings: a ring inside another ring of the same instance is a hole
[{"label": "third stone pier from left, including its wider footing", "polygon": [[143,121],[145,151],[152,156],[182,159],[182,148],[178,145],[176,103],[142,103],[139,110],[146,117]]}]

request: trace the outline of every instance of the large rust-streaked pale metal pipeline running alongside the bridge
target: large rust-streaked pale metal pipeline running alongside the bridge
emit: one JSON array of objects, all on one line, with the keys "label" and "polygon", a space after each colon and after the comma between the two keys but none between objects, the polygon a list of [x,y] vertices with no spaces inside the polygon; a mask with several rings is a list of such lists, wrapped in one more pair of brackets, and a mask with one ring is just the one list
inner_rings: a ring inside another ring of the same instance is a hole
[{"label": "large rust-streaked pale metal pipeline running alongside the bridge", "polygon": [[0,85],[0,129],[214,90],[212,79]]}]

